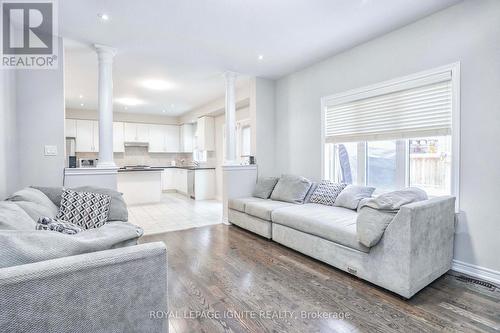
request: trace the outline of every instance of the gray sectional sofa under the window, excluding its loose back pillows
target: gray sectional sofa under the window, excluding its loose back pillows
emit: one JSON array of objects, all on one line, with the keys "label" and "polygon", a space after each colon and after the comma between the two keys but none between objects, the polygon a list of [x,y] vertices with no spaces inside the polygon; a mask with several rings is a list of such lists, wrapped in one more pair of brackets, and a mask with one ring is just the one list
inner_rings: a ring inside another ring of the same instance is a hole
[{"label": "gray sectional sofa under the window, excluding its loose back pillows", "polygon": [[302,201],[280,201],[273,194],[230,199],[228,220],[405,298],[451,268],[453,197],[403,205],[380,241],[368,247],[357,234],[358,211],[311,203],[314,187]]}]

